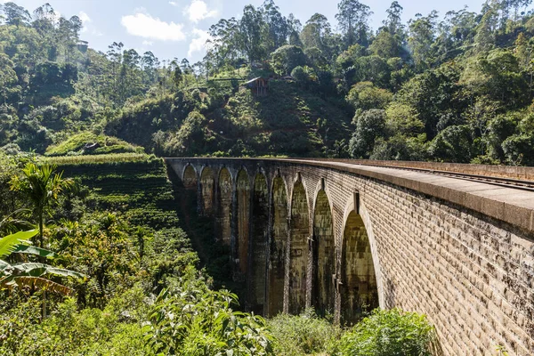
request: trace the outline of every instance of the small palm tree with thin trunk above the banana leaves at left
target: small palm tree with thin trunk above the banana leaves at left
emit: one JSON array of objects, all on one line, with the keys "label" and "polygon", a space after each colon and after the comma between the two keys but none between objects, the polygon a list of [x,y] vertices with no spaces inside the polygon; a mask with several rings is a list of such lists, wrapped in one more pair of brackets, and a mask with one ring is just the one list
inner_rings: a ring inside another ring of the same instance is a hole
[{"label": "small palm tree with thin trunk above the banana leaves at left", "polygon": [[44,213],[57,200],[61,191],[68,189],[74,181],[63,179],[63,173],[56,173],[57,166],[28,163],[21,175],[15,175],[10,182],[11,190],[20,191],[33,205],[33,212],[39,224],[39,247],[43,247]]}]

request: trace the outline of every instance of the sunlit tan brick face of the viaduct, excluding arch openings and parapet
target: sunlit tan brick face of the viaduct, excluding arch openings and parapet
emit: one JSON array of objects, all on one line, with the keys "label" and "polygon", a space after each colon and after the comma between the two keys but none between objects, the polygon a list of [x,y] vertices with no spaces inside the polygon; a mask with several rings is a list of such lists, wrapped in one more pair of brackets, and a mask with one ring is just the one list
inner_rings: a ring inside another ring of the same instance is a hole
[{"label": "sunlit tan brick face of the viaduct, excluding arch openings and parapet", "polygon": [[[288,211],[295,182],[302,181],[310,236],[314,199],[324,179],[334,221],[337,274],[344,225],[358,190],[382,307],[428,315],[446,355],[495,354],[499,344],[510,354],[534,354],[534,239],[530,231],[341,168],[275,160],[169,161],[179,174],[186,162],[197,172],[203,165],[212,166],[215,172],[223,165],[232,172],[247,166],[251,175],[262,168],[270,187],[280,175],[286,182]],[[309,261],[307,306],[312,302],[312,269]],[[340,296],[332,297],[339,315]]]}]

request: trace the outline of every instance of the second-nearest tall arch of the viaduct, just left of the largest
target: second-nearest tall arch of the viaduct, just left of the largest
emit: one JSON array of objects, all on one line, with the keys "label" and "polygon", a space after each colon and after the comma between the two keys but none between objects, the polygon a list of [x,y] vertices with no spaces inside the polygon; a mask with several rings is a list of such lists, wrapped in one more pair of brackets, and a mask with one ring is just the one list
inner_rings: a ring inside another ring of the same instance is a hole
[{"label": "second-nearest tall arch of the viaduct, just left of the largest", "polygon": [[332,207],[324,184],[317,191],[313,209],[312,303],[316,312],[334,312],[336,239]]}]

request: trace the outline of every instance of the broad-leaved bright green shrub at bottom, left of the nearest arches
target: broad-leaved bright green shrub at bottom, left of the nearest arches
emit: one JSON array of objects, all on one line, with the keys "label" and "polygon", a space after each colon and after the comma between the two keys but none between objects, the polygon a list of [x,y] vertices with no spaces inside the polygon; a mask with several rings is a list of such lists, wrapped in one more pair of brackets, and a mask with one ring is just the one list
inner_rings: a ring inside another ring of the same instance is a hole
[{"label": "broad-leaved bright green shrub at bottom, left of the nearest arches", "polygon": [[198,282],[193,271],[175,287],[163,290],[144,328],[158,354],[269,355],[271,336],[263,318],[235,312],[230,292],[214,292]]}]

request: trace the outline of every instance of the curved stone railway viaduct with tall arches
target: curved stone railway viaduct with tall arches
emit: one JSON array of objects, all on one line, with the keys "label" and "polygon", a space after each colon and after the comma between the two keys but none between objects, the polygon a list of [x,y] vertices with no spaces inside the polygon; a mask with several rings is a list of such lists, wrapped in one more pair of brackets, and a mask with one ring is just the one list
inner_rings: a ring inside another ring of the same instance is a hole
[{"label": "curved stone railway viaduct with tall arches", "polygon": [[446,355],[534,354],[533,191],[341,161],[166,162],[231,246],[249,310],[351,323],[400,307],[428,316]]}]

